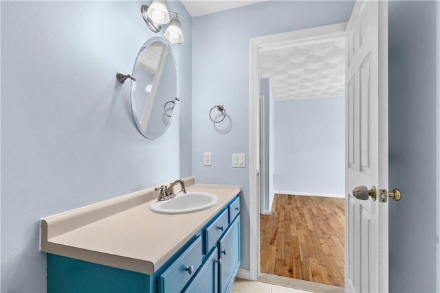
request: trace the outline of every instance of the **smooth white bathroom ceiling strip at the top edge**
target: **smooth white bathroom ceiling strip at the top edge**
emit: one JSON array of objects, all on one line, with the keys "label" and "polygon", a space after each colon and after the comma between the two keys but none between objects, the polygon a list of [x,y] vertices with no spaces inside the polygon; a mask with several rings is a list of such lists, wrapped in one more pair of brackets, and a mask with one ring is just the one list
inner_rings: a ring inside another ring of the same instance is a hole
[{"label": "smooth white bathroom ceiling strip at the top edge", "polygon": [[267,0],[181,0],[192,17],[220,12]]}]

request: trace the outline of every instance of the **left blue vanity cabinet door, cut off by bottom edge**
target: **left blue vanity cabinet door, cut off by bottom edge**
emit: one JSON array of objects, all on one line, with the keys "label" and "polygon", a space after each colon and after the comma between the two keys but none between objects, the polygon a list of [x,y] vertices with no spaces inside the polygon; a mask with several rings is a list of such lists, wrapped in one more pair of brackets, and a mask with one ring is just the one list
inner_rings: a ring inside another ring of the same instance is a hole
[{"label": "left blue vanity cabinet door, cut off by bottom edge", "polygon": [[219,276],[219,250],[215,248],[212,250],[203,266],[201,266],[199,272],[191,281],[190,285],[184,290],[184,292],[212,292],[217,293],[219,288],[218,276]]}]

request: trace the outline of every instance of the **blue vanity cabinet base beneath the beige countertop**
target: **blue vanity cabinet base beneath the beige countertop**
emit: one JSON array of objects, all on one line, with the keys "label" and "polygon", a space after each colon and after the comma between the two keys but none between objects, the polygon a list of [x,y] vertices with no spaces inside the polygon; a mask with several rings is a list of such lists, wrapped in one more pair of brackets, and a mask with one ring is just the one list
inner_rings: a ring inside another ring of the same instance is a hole
[{"label": "blue vanity cabinet base beneath the beige countertop", "polygon": [[47,292],[229,292],[240,266],[239,196],[154,274],[47,254]]}]

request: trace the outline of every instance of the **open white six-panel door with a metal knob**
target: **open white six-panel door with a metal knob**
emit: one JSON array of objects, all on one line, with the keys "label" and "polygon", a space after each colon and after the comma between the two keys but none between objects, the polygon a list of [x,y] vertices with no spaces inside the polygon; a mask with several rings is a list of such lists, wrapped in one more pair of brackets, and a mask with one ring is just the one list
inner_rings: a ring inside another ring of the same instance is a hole
[{"label": "open white six-panel door with a metal knob", "polygon": [[[346,30],[347,292],[388,292],[387,5],[356,1]],[[374,186],[377,200],[358,199],[360,186]]]}]

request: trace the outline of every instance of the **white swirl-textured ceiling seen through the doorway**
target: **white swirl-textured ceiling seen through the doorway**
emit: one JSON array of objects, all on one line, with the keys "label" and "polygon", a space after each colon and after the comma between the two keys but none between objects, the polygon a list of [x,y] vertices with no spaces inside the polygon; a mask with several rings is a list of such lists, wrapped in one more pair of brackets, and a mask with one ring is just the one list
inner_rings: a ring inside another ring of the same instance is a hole
[{"label": "white swirl-textured ceiling seen through the doorway", "polygon": [[277,101],[345,94],[344,40],[263,51],[260,75]]}]

